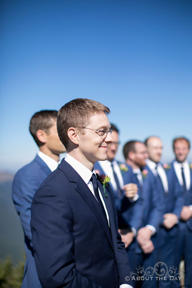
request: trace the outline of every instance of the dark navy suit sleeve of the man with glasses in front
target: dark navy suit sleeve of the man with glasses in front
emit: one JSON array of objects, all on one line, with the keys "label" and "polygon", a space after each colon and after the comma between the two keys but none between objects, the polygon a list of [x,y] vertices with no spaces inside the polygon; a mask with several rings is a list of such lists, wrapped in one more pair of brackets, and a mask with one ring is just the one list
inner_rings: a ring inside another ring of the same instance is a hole
[{"label": "dark navy suit sleeve of the man with glasses in front", "polygon": [[31,229],[42,288],[102,288],[75,268],[73,214],[63,191],[42,186],[35,193]]}]

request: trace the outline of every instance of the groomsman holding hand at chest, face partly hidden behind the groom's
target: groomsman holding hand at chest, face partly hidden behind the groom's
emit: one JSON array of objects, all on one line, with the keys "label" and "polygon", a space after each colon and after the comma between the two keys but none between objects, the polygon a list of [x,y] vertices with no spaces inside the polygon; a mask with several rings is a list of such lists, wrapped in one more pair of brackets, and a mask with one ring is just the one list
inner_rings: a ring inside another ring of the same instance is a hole
[{"label": "groomsman holding hand at chest, face partly hidden behind the groom's", "polygon": [[140,227],[142,200],[138,199],[137,180],[131,166],[115,159],[119,146],[119,130],[114,124],[111,124],[111,129],[114,142],[108,145],[107,160],[96,162],[94,169],[98,174],[105,174],[111,178],[118,226],[122,234],[122,241],[127,248],[136,237]]}]

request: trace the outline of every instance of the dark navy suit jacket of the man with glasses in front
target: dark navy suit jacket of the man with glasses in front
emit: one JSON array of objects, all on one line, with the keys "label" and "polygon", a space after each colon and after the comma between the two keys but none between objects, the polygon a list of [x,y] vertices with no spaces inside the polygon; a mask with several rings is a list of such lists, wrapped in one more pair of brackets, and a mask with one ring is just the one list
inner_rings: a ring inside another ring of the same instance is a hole
[{"label": "dark navy suit jacket of the man with glasses in front", "polygon": [[106,187],[105,198],[98,185],[110,229],[87,184],[64,159],[35,193],[31,229],[43,288],[118,288],[130,275],[112,191]]}]

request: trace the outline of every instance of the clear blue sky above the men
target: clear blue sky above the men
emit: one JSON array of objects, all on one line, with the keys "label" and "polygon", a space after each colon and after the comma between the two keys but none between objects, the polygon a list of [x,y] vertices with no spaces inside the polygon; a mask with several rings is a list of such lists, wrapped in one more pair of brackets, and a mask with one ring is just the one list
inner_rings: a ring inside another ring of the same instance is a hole
[{"label": "clear blue sky above the men", "polygon": [[[31,116],[74,98],[102,102],[130,139],[192,141],[191,0],[2,0],[0,170],[35,157]],[[190,154],[192,160],[192,153]]]}]

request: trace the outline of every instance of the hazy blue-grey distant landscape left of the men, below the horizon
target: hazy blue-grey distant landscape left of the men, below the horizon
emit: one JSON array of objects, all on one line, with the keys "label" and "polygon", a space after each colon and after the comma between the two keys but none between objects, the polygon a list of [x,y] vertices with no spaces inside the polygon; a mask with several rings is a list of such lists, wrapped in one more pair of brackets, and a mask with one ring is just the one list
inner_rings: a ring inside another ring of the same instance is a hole
[{"label": "hazy blue-grey distant landscape left of the men, below the horizon", "polygon": [[11,255],[17,263],[24,258],[24,236],[11,198],[12,178],[0,177],[0,259]]}]

